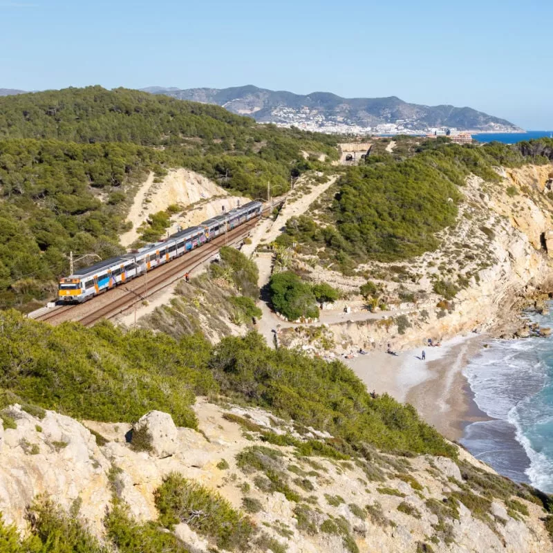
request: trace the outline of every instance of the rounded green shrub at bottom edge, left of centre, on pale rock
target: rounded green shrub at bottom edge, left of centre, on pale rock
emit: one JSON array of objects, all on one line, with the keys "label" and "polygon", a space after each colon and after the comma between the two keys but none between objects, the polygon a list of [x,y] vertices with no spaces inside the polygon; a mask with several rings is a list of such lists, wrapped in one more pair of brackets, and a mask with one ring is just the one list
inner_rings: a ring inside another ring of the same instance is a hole
[{"label": "rounded green shrub at bottom edge, left of centre, on pale rock", "polygon": [[254,534],[252,522],[225,498],[180,474],[164,478],[154,498],[162,525],[187,523],[198,534],[212,538],[217,547],[244,550]]}]

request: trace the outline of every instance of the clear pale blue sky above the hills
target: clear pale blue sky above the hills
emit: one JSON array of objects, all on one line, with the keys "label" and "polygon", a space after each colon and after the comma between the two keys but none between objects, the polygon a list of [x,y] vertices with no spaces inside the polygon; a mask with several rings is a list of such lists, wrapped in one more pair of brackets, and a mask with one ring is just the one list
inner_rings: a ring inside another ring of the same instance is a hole
[{"label": "clear pale blue sky above the hills", "polygon": [[0,88],[256,84],[553,129],[549,0],[0,0]]}]

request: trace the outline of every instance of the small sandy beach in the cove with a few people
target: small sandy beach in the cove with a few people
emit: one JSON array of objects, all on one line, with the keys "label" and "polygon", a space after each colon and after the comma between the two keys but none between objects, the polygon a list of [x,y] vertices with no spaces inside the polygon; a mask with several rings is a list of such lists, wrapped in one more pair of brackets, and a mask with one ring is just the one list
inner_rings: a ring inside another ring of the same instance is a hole
[{"label": "small sandy beach in the cove with a few people", "polygon": [[476,355],[485,337],[458,336],[439,347],[404,350],[398,355],[372,352],[346,360],[368,391],[388,393],[412,404],[422,418],[450,440],[459,440],[470,422],[488,420],[472,400],[462,368]]}]

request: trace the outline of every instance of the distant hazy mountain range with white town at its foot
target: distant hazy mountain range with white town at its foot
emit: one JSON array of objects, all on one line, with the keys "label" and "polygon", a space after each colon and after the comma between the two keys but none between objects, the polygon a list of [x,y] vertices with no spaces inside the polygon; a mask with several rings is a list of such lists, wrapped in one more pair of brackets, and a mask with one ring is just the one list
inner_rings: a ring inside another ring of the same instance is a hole
[{"label": "distant hazy mountain range with white town at its foot", "polygon": [[[299,95],[270,91],[257,86],[232,88],[142,88],[153,94],[165,94],[180,100],[218,104],[228,111],[250,115],[259,122],[299,126],[310,130],[335,132],[427,131],[447,126],[466,131],[523,131],[505,120],[469,107],[423,106],[409,104],[395,96],[386,98],[343,98],[326,92]],[[382,126],[384,125],[384,126]],[[396,128],[387,128],[395,125]]]}]

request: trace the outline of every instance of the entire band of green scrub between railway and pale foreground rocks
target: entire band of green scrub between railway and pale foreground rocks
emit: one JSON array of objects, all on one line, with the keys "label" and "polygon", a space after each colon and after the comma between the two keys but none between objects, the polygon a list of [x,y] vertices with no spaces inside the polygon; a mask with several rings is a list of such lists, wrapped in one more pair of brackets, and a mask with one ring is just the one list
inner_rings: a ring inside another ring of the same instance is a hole
[{"label": "entire band of green scrub between railway and pale foreground rocks", "polygon": [[413,407],[374,400],[344,364],[272,350],[256,333],[212,348],[198,336],[125,334],[109,323],[52,328],[15,311],[0,314],[0,326],[0,408],[17,401],[113,422],[160,409],[196,427],[196,394],[223,393],[327,430],[348,448],[455,454]]}]

